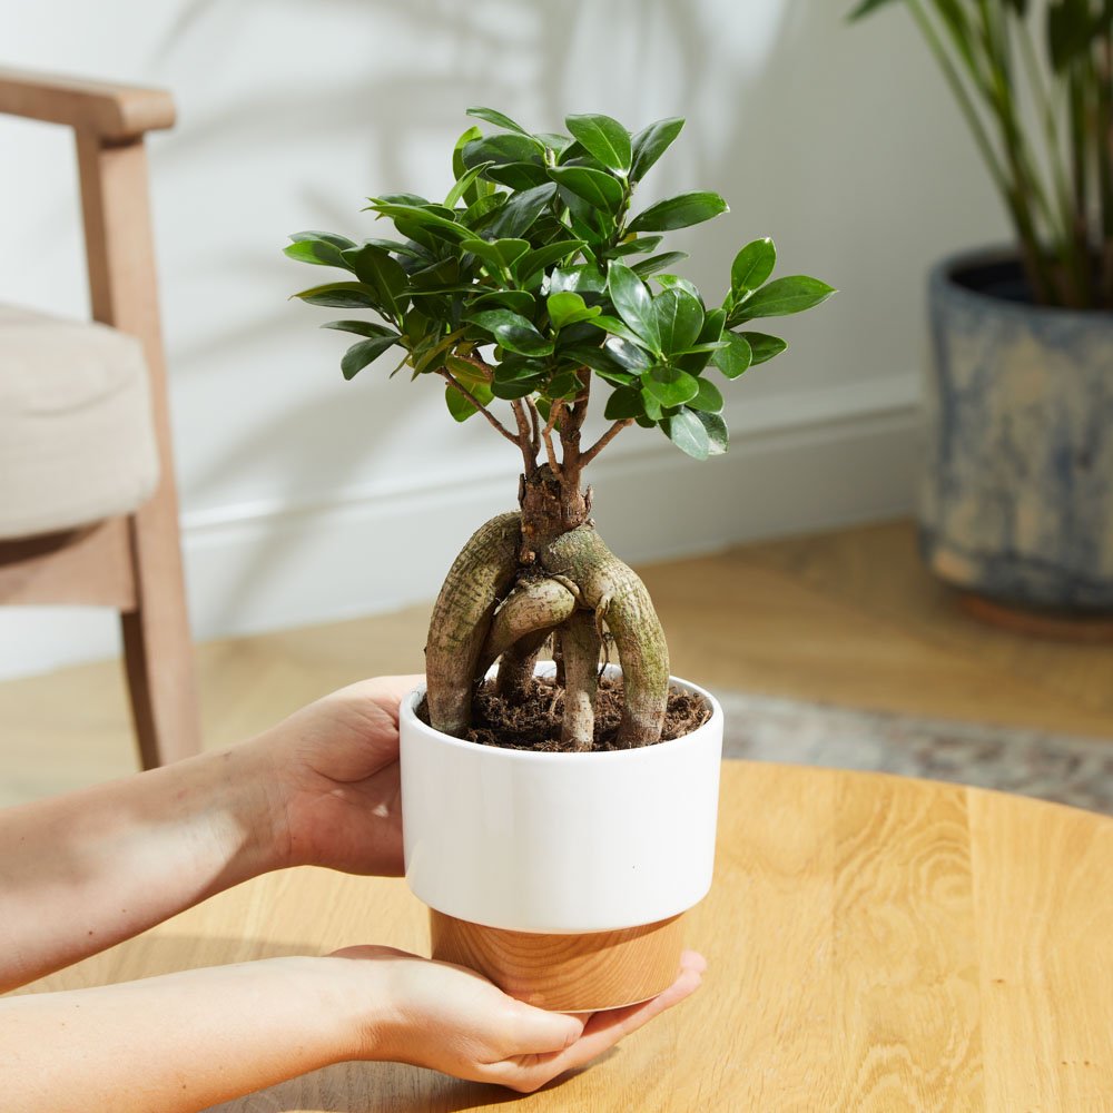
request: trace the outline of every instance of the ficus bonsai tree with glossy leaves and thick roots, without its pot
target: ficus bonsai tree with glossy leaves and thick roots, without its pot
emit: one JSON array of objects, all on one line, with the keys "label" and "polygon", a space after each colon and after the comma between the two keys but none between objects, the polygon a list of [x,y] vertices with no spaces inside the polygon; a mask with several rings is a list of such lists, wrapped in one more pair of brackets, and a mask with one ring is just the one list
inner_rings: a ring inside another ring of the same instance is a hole
[{"label": "ficus bonsai tree with glossy leaves and thick roots, without its pot", "polygon": [[[570,135],[534,135],[492,109],[469,115],[498,130],[461,136],[442,203],[371,198],[367,208],[392,221],[397,238],[292,237],[289,257],[352,276],[295,296],[380,318],[325,326],[362,337],[341,361],[345,378],[397,347],[395,371],[444,380],[452,416],[481,414],[521,456],[520,509],[475,532],[434,607],[425,650],[431,725],[463,736],[475,684],[495,661],[499,695],[523,699],[554,637],[565,684],[561,745],[591,749],[605,627],[624,683],[617,745],[644,746],[661,737],[668,648],[641,580],[592,526],[584,469],[633,424],[660,429],[697,460],[725,452],[722,395],[709,372],[732,381],[786,347],[739,326],[810,308],[834,290],[805,276],[769,280],[769,239],[738,253],[717,308],[670,270],[687,256],[658,253],[661,233],[727,211],[713,193],[631,211],[638,183],[681,119],[631,137],[607,116],[570,116]],[[584,445],[600,387],[611,424]]]}]

